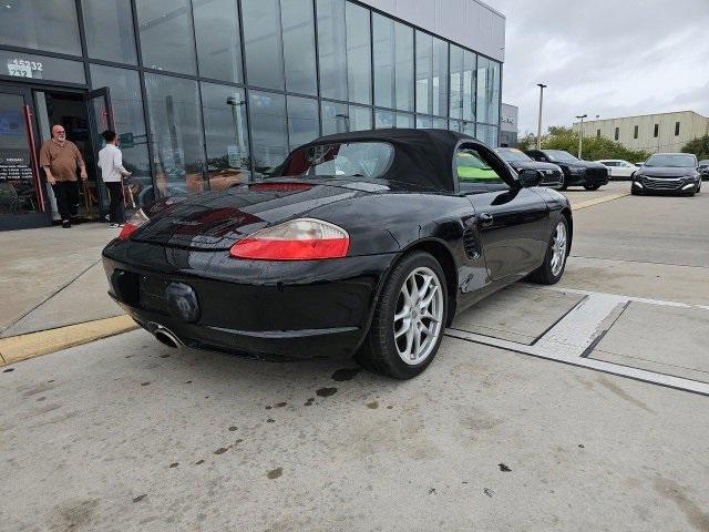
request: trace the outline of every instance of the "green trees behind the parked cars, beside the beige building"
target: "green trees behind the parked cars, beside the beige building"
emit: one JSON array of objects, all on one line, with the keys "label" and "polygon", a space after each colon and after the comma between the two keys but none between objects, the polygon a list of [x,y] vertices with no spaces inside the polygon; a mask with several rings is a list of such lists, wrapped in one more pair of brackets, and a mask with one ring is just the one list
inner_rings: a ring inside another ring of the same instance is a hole
[{"label": "green trees behind the parked cars, beside the beige building", "polygon": [[[531,150],[536,146],[536,136],[527,134],[518,141],[520,150]],[[573,155],[578,153],[578,133],[571,127],[553,125],[542,136],[542,147],[546,150],[564,150]],[[582,157],[587,161],[599,158],[623,158],[631,163],[645,161],[650,153],[645,151],[628,150],[619,142],[612,141],[607,136],[584,136]]]}]

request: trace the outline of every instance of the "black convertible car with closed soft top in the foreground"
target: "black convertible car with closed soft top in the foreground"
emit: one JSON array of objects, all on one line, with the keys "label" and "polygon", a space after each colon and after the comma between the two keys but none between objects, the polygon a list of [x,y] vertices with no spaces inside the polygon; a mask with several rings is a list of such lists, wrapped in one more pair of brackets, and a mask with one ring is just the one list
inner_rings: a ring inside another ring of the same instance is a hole
[{"label": "black convertible car with closed soft top in the foreground", "polygon": [[352,357],[405,379],[453,315],[532,275],[553,284],[567,200],[523,187],[442,130],[364,131],[295,150],[274,176],[140,211],[103,250],[110,294],[166,345]]}]

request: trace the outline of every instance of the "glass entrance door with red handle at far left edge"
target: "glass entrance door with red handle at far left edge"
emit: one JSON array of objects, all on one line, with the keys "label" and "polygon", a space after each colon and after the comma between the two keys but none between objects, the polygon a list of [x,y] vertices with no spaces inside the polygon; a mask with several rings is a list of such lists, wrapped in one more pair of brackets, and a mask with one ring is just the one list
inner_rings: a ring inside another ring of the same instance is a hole
[{"label": "glass entrance door with red handle at far left edge", "polygon": [[0,85],[0,231],[50,224],[29,90]]}]

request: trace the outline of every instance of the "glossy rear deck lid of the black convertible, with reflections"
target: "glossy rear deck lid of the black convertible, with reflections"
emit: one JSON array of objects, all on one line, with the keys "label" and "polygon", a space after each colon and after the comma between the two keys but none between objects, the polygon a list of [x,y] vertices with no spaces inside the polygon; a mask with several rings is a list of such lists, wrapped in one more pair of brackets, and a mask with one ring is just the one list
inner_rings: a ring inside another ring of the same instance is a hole
[{"label": "glossy rear deck lid of the black convertible, with reflections", "polygon": [[228,249],[264,227],[361,195],[389,191],[386,184],[330,180],[269,180],[225,192],[195,194],[156,213],[133,241],[189,249]]}]

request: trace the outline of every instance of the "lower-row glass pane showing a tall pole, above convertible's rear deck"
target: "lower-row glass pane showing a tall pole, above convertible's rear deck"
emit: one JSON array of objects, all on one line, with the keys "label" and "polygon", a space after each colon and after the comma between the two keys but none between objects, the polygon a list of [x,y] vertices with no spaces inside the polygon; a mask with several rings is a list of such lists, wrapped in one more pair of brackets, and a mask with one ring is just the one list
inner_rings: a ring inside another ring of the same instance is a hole
[{"label": "lower-row glass pane showing a tall pole, above convertible's rear deck", "polygon": [[250,156],[244,89],[202,83],[209,190],[224,191],[249,181]]}]

